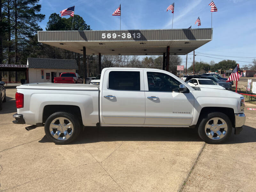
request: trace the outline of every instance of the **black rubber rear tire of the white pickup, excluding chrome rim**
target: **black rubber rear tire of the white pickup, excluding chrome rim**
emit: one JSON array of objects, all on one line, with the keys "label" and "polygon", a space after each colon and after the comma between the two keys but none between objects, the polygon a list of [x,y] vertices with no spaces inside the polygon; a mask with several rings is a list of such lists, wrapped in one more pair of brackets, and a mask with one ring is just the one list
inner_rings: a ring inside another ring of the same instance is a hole
[{"label": "black rubber rear tire of the white pickup, excluding chrome rim", "polygon": [[[72,124],[73,124],[73,133],[71,134],[71,136],[66,139],[66,140],[58,140],[55,139],[51,132],[50,132],[50,124],[52,123],[52,121],[55,118],[58,117],[64,117],[67,118]],[[79,133],[80,133],[80,128],[81,128],[81,120],[79,120],[78,118],[76,118],[73,114],[67,113],[67,112],[56,112],[53,113],[51,116],[49,116],[47,118],[47,120],[45,121],[44,124],[44,132],[45,135],[47,136],[47,138],[49,140],[51,140],[52,142],[56,143],[56,144],[68,144],[74,140],[76,140],[76,138],[78,137]]]}]

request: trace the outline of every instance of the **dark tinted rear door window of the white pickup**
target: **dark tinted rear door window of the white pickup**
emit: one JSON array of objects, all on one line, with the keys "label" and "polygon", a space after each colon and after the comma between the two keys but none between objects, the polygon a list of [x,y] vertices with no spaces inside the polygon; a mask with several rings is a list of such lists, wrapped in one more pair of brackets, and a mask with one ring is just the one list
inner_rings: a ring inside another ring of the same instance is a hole
[{"label": "dark tinted rear door window of the white pickup", "polygon": [[110,71],[108,89],[140,91],[140,71]]}]

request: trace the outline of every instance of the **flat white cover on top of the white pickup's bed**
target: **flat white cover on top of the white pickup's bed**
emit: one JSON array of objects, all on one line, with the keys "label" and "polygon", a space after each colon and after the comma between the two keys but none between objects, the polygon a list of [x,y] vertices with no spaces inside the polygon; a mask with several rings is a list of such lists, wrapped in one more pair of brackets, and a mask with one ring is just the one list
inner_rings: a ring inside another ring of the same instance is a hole
[{"label": "flat white cover on top of the white pickup's bed", "polygon": [[93,84],[31,83],[20,85],[17,89],[98,90],[98,87]]}]

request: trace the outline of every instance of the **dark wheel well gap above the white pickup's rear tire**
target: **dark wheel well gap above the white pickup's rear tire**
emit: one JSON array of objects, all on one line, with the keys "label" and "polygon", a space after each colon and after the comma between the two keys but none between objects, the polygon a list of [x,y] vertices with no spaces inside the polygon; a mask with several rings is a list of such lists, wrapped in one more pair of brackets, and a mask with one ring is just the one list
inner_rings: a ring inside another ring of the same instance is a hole
[{"label": "dark wheel well gap above the white pickup's rear tire", "polygon": [[46,105],[44,106],[43,111],[43,123],[45,123],[46,119],[52,115],[53,113],[63,111],[74,114],[82,121],[81,110],[78,106],[75,105]]}]

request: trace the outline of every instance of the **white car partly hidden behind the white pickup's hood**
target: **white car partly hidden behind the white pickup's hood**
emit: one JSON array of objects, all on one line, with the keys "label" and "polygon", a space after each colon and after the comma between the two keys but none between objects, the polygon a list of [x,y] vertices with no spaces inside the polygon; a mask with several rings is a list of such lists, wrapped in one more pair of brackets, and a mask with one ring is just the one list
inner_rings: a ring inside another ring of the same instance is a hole
[{"label": "white car partly hidden behind the white pickup's hood", "polygon": [[205,87],[205,88],[212,88],[212,89],[224,89],[224,87],[218,85],[211,79],[203,79],[203,78],[198,78],[198,79],[190,79],[188,81],[188,84],[191,87]]}]

